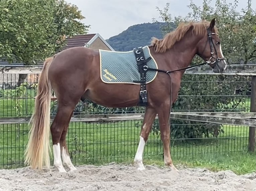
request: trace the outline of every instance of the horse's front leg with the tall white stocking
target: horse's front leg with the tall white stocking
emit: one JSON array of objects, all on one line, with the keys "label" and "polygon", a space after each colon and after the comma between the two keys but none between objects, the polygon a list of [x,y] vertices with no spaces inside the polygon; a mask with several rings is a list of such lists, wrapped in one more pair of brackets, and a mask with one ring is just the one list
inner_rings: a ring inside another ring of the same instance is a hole
[{"label": "horse's front leg with the tall white stocking", "polygon": [[137,166],[138,170],[145,170],[145,167],[142,162],[142,156],[144,152],[145,143],[147,142],[148,135],[150,133],[155,116],[156,116],[156,111],[152,108],[146,107],[141,131],[140,131],[140,141],[139,141],[136,155],[134,157],[134,164]]}]

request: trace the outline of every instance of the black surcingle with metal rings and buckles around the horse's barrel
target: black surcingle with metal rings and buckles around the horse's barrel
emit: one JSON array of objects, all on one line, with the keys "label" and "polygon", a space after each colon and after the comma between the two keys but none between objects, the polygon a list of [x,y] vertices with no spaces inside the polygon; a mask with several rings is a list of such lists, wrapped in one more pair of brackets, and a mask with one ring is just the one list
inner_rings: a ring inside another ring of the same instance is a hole
[{"label": "black surcingle with metal rings and buckles around the horse's barrel", "polygon": [[148,57],[145,59],[142,47],[134,48],[133,52],[135,54],[138,71],[140,73],[140,81],[134,80],[134,83],[140,83],[140,101],[139,106],[147,105],[147,90],[146,90],[146,72],[147,72],[147,62],[151,59]]}]

